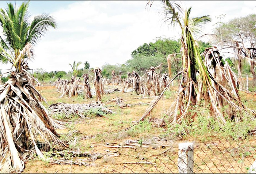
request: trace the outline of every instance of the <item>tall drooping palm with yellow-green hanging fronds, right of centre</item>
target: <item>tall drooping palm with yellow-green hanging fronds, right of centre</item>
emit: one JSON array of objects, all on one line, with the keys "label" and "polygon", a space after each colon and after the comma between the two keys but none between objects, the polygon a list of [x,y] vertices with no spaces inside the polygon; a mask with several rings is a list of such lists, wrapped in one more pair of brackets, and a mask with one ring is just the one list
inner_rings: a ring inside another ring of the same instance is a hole
[{"label": "tall drooping palm with yellow-green hanging fronds, right of centre", "polygon": [[[183,8],[182,5],[176,1],[162,0],[161,3],[164,13],[164,21],[170,22],[170,25],[178,26],[182,31],[181,46],[183,71],[176,102],[173,103],[170,112],[168,113],[172,123],[180,124],[184,118],[192,120],[195,117],[195,113],[191,113],[190,110],[193,109],[193,106],[197,105],[200,100],[204,100],[206,103],[210,104],[212,116],[216,117],[222,124],[226,121],[220,111],[220,107],[225,104],[229,105],[232,109],[232,115],[229,117],[230,119],[236,121],[241,120],[243,118],[243,111],[248,111],[248,115],[250,115],[249,112],[254,114],[251,109],[246,108],[241,103],[239,96],[235,95],[221,83],[216,81],[216,76],[211,73],[207,66],[210,64],[210,61],[204,63],[202,60],[202,56],[207,55],[208,59],[211,60],[211,63],[214,63],[215,61],[216,64],[217,61],[216,55],[212,53],[213,49],[209,49],[209,52],[201,55],[198,43],[195,39],[201,34],[203,24],[210,22],[211,18],[208,15],[192,18],[190,16],[192,8]],[[152,4],[153,1],[148,1],[147,3],[147,5],[150,6]],[[221,64],[219,63],[217,66],[221,66]],[[219,72],[221,73],[222,71]],[[199,74],[199,76],[197,76],[197,74]],[[231,74],[232,73],[229,73],[229,75]],[[233,83],[233,77],[230,79],[229,83]],[[166,89],[167,87],[165,90]],[[143,118],[150,113],[156,102],[159,101],[163,92],[157,100],[153,101],[155,103],[152,103],[149,109],[146,110],[143,114]],[[254,117],[251,117],[251,119],[254,119]],[[181,132],[181,134],[182,133],[184,132]]]}]

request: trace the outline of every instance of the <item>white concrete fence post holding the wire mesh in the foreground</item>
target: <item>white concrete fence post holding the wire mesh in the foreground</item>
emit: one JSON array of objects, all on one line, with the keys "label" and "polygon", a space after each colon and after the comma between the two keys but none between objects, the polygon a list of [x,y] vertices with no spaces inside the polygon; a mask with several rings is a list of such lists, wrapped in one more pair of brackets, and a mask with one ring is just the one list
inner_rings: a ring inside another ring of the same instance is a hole
[{"label": "white concrete fence post holding the wire mesh in the foreground", "polygon": [[179,173],[194,173],[194,143],[179,144]]}]

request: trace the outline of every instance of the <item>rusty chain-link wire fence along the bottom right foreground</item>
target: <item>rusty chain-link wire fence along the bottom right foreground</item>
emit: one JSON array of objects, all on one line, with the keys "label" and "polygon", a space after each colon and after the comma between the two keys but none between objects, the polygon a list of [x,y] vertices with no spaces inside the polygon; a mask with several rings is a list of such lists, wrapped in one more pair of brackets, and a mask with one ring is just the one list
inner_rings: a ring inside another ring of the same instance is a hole
[{"label": "rusty chain-link wire fence along the bottom right foreground", "polygon": [[[256,173],[256,140],[218,140],[175,144],[138,162],[127,162],[106,173]],[[254,163],[254,164],[253,164]]]}]

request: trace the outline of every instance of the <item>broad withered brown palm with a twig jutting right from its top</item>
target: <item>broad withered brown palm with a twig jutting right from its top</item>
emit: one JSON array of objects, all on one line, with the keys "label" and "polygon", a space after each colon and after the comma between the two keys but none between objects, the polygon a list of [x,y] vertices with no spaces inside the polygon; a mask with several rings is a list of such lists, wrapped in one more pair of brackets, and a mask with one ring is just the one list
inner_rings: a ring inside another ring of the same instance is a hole
[{"label": "broad withered brown palm with a twig jutting right from its top", "polygon": [[[161,67],[161,65],[153,67],[150,67],[150,70],[147,71],[147,80],[146,80],[146,89],[147,89],[147,95],[150,95],[151,92],[153,92],[154,95],[160,94],[160,76],[156,74],[155,69]],[[146,94],[146,90],[144,90],[144,94]]]}]

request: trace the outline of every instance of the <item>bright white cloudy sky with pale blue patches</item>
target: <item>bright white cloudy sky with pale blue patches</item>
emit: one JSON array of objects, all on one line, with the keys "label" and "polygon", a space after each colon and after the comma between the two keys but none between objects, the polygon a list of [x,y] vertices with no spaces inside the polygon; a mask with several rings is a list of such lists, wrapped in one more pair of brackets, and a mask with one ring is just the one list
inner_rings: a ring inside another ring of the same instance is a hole
[{"label": "bright white cloudy sky with pale blue patches", "polygon": [[[7,2],[0,1],[0,8]],[[91,67],[105,63],[124,64],[131,52],[156,37],[178,39],[180,31],[163,23],[160,2],[154,1],[145,8],[147,1],[30,1],[31,19],[48,13],[57,22],[57,29],[50,29],[34,47],[32,69],[45,71],[69,71],[74,61],[88,61]],[[218,20],[226,14],[223,22],[246,16],[256,11],[256,1],[181,1],[192,6],[192,17],[210,15],[212,22],[205,26],[204,33],[212,33]],[[207,40],[206,40],[207,41]],[[0,63],[2,72],[11,65]],[[80,65],[79,68],[82,68]]]}]

